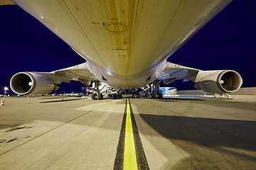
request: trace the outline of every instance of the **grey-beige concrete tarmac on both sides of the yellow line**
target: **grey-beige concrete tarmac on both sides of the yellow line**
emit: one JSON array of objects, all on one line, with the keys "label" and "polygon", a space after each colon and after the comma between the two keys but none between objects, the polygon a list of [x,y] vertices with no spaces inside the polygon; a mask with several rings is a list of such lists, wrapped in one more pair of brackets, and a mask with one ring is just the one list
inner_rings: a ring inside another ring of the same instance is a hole
[{"label": "grey-beige concrete tarmac on both sides of the yellow line", "polygon": [[[126,103],[6,97],[0,106],[0,169],[122,169]],[[129,103],[139,167],[255,169],[256,95]]]}]

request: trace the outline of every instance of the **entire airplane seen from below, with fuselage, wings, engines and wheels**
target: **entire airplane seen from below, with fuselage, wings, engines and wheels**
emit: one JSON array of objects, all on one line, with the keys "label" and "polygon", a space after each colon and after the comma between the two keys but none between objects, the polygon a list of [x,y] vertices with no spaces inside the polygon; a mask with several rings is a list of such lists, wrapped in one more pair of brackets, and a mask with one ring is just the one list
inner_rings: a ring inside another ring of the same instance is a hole
[{"label": "entire airplane seen from below, with fuselage, wings, engines and wheels", "polygon": [[[19,72],[11,89],[20,95],[48,94],[58,84],[95,81],[115,89],[138,89],[153,83],[152,98],[162,98],[159,81],[195,82],[210,93],[240,89],[233,70],[203,71],[166,62],[186,40],[227,6],[229,0],[40,1],[14,0],[64,40],[86,62],[53,72]],[[2,1],[0,5],[11,4]],[[119,92],[118,92],[119,93]],[[136,96],[135,91],[135,97]],[[94,98],[102,99],[99,88]]]}]

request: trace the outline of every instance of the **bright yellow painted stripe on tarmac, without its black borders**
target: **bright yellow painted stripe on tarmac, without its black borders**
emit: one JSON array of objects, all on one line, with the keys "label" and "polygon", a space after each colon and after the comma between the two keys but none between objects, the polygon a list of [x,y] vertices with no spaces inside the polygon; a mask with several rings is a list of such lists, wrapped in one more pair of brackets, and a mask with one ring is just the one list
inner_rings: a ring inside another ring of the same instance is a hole
[{"label": "bright yellow painted stripe on tarmac, without its black borders", "polygon": [[131,110],[129,100],[127,98],[127,118],[125,124],[125,139],[124,139],[124,170],[138,169],[137,156],[134,144],[134,135],[132,130]]}]

